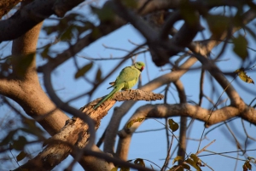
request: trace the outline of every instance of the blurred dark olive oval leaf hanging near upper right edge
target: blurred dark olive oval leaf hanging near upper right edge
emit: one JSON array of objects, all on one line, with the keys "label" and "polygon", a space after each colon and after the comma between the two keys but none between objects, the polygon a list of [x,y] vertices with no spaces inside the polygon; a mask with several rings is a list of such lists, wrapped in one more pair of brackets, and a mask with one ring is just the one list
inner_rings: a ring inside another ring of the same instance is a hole
[{"label": "blurred dark olive oval leaf hanging near upper right edge", "polygon": [[241,60],[245,60],[248,56],[247,52],[247,39],[239,35],[238,37],[232,38],[234,43],[234,52],[241,58]]}]

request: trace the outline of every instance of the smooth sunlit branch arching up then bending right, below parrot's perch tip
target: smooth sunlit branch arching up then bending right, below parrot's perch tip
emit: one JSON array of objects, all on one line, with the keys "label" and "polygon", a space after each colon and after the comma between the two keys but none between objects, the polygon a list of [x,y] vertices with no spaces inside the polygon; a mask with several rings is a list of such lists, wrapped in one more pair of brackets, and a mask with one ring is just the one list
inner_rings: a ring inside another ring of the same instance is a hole
[{"label": "smooth sunlit branch arching up then bending right, below parrot's perch tip", "polygon": [[[204,109],[200,106],[189,105],[189,104],[175,104],[175,105],[143,105],[135,111],[133,116],[129,119],[127,123],[130,123],[133,120],[138,118],[166,118],[166,117],[192,117],[202,122],[207,123],[207,126],[212,124],[222,123],[233,117],[242,117],[247,120],[245,117],[250,117],[250,123],[256,125],[256,111],[249,107],[249,110],[246,113],[241,113],[235,107],[226,106],[216,111],[212,111],[212,116],[208,121],[211,110]],[[118,153],[120,157],[126,157],[128,151],[125,151],[125,148],[129,149],[131,143],[131,136],[137,130],[137,128],[143,123],[137,122],[133,123],[130,127],[125,127],[119,131],[119,145]],[[127,147],[128,146],[128,147]]]}]

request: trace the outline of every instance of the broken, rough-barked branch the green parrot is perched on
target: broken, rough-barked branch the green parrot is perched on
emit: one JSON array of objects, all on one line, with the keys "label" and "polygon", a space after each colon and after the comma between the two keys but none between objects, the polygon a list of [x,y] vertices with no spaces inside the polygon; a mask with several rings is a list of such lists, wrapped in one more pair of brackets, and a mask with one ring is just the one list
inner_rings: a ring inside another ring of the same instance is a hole
[{"label": "broken, rough-barked branch the green parrot is perched on", "polygon": [[[114,100],[160,100],[163,98],[161,94],[153,94],[151,92],[143,92],[142,90],[128,90],[123,92],[118,92],[113,96],[113,100],[107,100],[103,103],[100,110],[94,110],[93,106],[100,100],[94,100],[90,104],[85,105],[80,109],[84,115],[90,116],[91,119],[96,123],[95,129],[100,126],[101,120],[108,114],[108,110],[113,106]],[[104,109],[104,111],[103,111]],[[79,149],[84,149],[86,143],[88,143],[90,132],[89,127],[84,120],[79,117],[73,117],[73,119],[68,120],[65,127],[61,129],[61,132],[55,134],[52,138],[47,140],[44,145],[46,148],[41,151],[37,157],[26,162],[21,168],[29,169],[36,167],[42,170],[49,170],[54,168],[62,160],[64,160],[71,151],[73,151],[74,146]],[[56,143],[57,142],[57,143]],[[61,143],[65,142],[65,143]],[[61,145],[61,148],[60,148]],[[82,150],[83,152],[83,150]],[[109,166],[110,167],[110,166]],[[86,168],[84,168],[86,169]]]}]

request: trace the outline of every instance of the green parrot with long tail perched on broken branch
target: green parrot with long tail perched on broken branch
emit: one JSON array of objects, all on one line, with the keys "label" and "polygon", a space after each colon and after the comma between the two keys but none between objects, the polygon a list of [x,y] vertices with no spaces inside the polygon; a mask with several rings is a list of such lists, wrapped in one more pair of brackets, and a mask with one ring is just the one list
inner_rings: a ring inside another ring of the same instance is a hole
[{"label": "green parrot with long tail perched on broken branch", "polygon": [[131,89],[137,83],[138,77],[140,76],[141,71],[143,71],[144,66],[145,64],[143,62],[136,62],[133,66],[126,66],[122,71],[120,71],[119,76],[116,77],[116,80],[109,83],[111,85],[109,88],[113,88],[113,90],[97,105],[95,105],[93,109],[96,110],[98,106],[102,105],[104,101],[113,97],[113,94],[119,90]]}]

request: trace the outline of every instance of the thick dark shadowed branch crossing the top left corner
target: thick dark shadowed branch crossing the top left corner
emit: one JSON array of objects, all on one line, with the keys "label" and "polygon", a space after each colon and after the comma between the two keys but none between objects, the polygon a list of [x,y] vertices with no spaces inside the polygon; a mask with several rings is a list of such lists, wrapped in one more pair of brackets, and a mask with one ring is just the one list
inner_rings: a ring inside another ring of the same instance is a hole
[{"label": "thick dark shadowed branch crossing the top left corner", "polygon": [[0,20],[0,43],[20,37],[52,14],[62,17],[82,2],[84,1],[35,0],[19,9],[8,20]]}]

